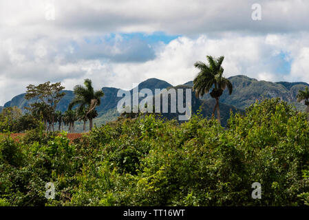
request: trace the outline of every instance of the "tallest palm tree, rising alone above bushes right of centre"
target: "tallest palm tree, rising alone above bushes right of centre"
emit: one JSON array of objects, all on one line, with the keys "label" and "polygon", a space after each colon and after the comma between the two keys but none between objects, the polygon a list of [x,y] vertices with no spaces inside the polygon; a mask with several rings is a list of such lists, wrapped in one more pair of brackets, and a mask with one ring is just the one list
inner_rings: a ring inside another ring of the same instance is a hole
[{"label": "tallest palm tree, rising alone above bushes right of centre", "polygon": [[194,66],[200,69],[198,76],[193,80],[193,91],[195,96],[200,97],[207,94],[211,90],[211,97],[215,98],[215,107],[213,108],[213,115],[215,109],[217,109],[217,121],[220,124],[220,107],[219,99],[224,89],[228,88],[228,92],[231,95],[233,92],[232,83],[222,76],[224,69],[221,66],[224,60],[224,56],[214,58],[213,56],[206,56],[209,65],[206,65],[202,61],[198,61]]}]

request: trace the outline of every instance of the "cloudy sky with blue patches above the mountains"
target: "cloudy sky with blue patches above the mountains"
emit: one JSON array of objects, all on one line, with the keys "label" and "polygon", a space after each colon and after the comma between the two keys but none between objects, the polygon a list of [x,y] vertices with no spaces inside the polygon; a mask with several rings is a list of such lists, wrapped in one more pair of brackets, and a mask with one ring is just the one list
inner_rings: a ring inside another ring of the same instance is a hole
[{"label": "cloudy sky with blue patches above the mountains", "polygon": [[309,83],[308,21],[308,0],[0,0],[0,105],[47,81],[180,85],[206,55],[226,77]]}]

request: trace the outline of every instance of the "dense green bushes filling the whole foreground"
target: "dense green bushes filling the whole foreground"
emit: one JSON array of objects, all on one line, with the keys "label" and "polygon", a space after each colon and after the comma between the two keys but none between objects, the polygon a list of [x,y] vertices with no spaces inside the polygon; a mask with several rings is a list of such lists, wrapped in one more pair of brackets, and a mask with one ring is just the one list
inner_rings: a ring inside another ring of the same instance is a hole
[{"label": "dense green bushes filling the whole foreground", "polygon": [[[3,206],[301,206],[309,202],[308,114],[255,102],[228,127],[201,114],[94,127],[70,143],[43,126],[0,142]],[[45,198],[54,183],[55,198]],[[251,184],[262,184],[252,199]]]}]

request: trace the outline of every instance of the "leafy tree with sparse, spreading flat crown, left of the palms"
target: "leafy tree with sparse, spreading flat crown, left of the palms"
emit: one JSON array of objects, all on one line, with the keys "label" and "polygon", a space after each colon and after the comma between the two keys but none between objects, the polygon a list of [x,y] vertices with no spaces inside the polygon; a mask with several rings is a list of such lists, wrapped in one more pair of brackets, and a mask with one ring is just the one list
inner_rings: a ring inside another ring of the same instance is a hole
[{"label": "leafy tree with sparse, spreading flat crown, left of the palms", "polygon": [[65,93],[61,92],[65,87],[61,86],[61,83],[50,84],[47,83],[35,85],[28,85],[27,92],[25,94],[26,100],[34,99],[34,103],[30,104],[28,110],[34,114],[43,116],[44,124],[47,129],[47,122],[52,126],[54,131],[55,111],[58,102],[65,96]]}]

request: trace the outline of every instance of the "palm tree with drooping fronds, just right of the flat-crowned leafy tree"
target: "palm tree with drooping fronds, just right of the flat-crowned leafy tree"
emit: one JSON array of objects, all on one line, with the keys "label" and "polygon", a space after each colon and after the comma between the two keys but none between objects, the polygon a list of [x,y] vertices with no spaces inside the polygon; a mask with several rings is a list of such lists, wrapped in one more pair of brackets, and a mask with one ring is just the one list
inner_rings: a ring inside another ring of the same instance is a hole
[{"label": "palm tree with drooping fronds, just right of the flat-crowned leafy tree", "polygon": [[[92,87],[92,80],[85,79],[84,82],[85,87],[82,85],[76,85],[74,87],[74,99],[69,105],[69,109],[72,109],[75,105],[79,104],[77,112],[81,112],[82,109],[86,109],[85,118],[89,120],[89,130],[92,130],[92,120],[96,117],[96,115],[92,115],[92,111],[96,109],[98,105],[100,105],[100,98],[104,96],[102,90],[94,91],[94,87]],[[93,117],[94,116],[94,117]]]}]

